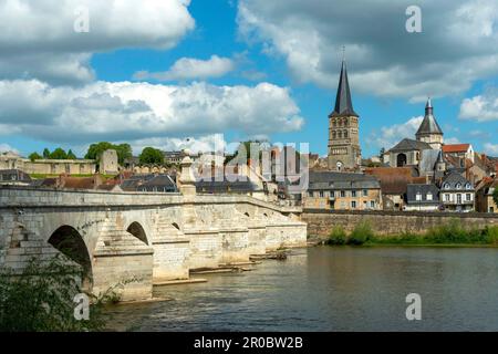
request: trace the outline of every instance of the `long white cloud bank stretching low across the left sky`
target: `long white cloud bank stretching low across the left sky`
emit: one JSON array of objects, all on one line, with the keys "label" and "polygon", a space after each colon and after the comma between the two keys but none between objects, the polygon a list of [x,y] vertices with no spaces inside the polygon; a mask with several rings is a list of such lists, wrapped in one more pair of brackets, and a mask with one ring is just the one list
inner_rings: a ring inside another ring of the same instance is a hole
[{"label": "long white cloud bank stretching low across the left sky", "polygon": [[95,82],[51,86],[40,81],[0,81],[0,134],[61,143],[139,140],[299,131],[304,121],[287,88],[187,86]]}]

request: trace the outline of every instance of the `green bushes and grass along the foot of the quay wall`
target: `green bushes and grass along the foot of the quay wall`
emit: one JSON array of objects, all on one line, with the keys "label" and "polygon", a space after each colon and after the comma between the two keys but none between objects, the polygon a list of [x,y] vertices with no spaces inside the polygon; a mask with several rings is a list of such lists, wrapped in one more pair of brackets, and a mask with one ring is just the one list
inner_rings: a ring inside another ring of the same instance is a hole
[{"label": "green bushes and grass along the foot of the quay wall", "polygon": [[335,227],[326,244],[330,246],[495,246],[498,247],[498,226],[484,229],[466,229],[457,219],[429,229],[422,235],[402,232],[395,236],[375,235],[369,222],[364,221],[347,233]]}]

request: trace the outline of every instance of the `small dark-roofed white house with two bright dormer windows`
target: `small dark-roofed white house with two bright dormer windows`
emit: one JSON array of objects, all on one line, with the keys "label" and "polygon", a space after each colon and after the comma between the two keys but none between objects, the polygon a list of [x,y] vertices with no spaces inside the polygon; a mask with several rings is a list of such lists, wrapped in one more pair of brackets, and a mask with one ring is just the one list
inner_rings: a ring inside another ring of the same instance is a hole
[{"label": "small dark-roofed white house with two bright dormer windows", "polygon": [[436,211],[439,210],[439,188],[434,184],[407,185],[406,211]]}]

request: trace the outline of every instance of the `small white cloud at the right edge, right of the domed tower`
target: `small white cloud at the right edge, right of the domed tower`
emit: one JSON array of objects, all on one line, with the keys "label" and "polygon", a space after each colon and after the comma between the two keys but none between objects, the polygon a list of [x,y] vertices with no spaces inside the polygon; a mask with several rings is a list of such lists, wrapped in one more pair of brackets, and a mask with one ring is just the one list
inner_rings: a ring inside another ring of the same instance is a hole
[{"label": "small white cloud at the right edge, right of the domed tower", "polygon": [[483,95],[465,98],[460,104],[459,117],[477,122],[498,119],[498,91],[488,90]]}]

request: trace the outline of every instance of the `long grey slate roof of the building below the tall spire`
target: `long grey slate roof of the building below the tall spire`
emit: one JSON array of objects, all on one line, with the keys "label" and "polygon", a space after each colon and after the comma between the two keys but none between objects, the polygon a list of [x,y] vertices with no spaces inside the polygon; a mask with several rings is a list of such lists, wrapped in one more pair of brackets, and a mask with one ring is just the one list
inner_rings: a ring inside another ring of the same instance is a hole
[{"label": "long grey slate roof of the building below the tall spire", "polygon": [[309,190],[378,189],[377,178],[364,174],[310,171]]}]

